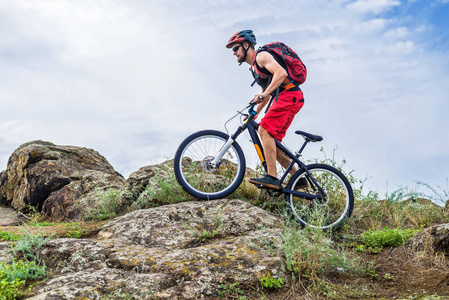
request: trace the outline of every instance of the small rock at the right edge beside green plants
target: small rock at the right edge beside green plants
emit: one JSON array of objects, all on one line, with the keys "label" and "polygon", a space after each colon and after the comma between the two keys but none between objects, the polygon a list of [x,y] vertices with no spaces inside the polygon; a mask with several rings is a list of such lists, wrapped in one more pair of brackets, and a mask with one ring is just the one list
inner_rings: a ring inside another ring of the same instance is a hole
[{"label": "small rock at the right edge beside green plants", "polygon": [[449,256],[449,224],[432,225],[410,238],[405,246],[413,251],[442,252]]}]

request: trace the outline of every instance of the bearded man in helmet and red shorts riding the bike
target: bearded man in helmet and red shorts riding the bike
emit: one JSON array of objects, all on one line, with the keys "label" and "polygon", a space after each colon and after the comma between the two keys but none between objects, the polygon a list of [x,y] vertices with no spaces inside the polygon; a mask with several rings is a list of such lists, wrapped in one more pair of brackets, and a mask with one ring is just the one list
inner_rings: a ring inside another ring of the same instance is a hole
[{"label": "bearded man in helmet and red shorts riding the bike", "polygon": [[[279,149],[274,139],[282,141],[287,129],[295,115],[304,105],[304,97],[298,85],[294,84],[282,66],[282,61],[275,58],[268,51],[256,51],[256,37],[251,30],[243,30],[235,33],[226,44],[232,49],[241,65],[246,62],[251,66],[250,70],[262,92],[254,95],[251,102],[256,102],[257,116],[262,109],[273,99],[268,112],[259,123],[259,135],[264,147],[264,155],[267,163],[267,175],[262,178],[250,178],[249,182],[258,186],[279,189],[280,181],[277,178],[276,160],[287,168],[291,160]],[[254,65],[257,64],[257,68]],[[265,76],[260,76],[262,72]],[[268,76],[267,76],[268,75]],[[293,175],[297,169],[292,168]]]}]

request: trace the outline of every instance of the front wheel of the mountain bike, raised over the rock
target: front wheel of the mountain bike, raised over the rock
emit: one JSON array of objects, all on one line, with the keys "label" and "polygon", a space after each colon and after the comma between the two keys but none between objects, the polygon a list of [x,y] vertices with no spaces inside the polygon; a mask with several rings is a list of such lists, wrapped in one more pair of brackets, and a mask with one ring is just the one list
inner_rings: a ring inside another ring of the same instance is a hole
[{"label": "front wheel of the mountain bike, raised over the rock", "polygon": [[176,179],[190,195],[212,200],[234,192],[245,175],[245,157],[233,142],[217,164],[213,160],[223,149],[229,136],[215,130],[196,132],[187,137],[176,151]]}]

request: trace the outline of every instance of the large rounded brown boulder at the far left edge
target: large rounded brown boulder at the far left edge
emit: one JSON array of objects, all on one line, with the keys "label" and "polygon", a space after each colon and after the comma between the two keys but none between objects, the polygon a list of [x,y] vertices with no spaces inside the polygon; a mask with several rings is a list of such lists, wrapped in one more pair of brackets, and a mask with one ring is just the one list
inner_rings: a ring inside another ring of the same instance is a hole
[{"label": "large rounded brown boulder at the far left edge", "polygon": [[56,220],[76,219],[76,202],[95,191],[119,189],[125,180],[98,152],[33,141],[21,145],[0,174],[0,203],[23,211],[37,207]]}]

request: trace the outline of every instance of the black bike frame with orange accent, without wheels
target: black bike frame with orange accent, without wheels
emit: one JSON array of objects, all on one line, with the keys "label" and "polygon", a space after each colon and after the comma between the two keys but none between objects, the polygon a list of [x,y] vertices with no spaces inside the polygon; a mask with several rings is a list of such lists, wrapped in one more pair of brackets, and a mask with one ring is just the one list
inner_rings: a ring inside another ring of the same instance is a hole
[{"label": "black bike frame with orange accent, without wheels", "polygon": [[[256,121],[254,121],[254,115],[251,114],[251,109],[250,109],[250,114],[246,115],[246,116],[247,117],[245,118],[243,125],[241,125],[236,130],[236,132],[231,136],[231,139],[233,141],[235,141],[237,139],[237,137],[242,132],[244,132],[246,129],[248,129],[249,135],[251,137],[251,141],[253,142],[254,147],[256,148],[257,155],[259,156],[262,166],[264,167],[265,171],[267,172],[267,163],[265,161],[263,146],[262,146],[262,143],[260,142],[259,135],[257,134],[257,129],[259,128],[259,124]],[[285,180],[285,178],[287,177],[288,173],[293,168],[295,163],[298,164],[298,166],[300,167],[299,169],[302,168],[308,173],[307,166],[302,161],[299,160],[299,157],[301,156],[301,153],[304,150],[304,148],[306,147],[306,145],[309,143],[309,140],[306,139],[304,141],[304,144],[302,145],[301,149],[298,152],[296,152],[296,155],[291,153],[290,150],[288,150],[278,140],[274,139],[274,141],[276,143],[276,147],[292,160],[292,162],[287,167],[287,169],[285,170],[284,174],[282,175],[282,177],[280,179],[281,183]],[[318,187],[318,190],[322,191],[321,186],[316,182],[315,178],[313,178],[312,176],[308,176],[307,180],[311,180],[313,182],[312,186],[316,186],[316,187]],[[298,192],[298,191],[294,191],[294,190],[283,189],[282,187],[279,189],[279,192],[282,192],[285,194],[292,194],[294,196],[301,197],[301,198],[308,199],[308,200],[320,198],[320,196],[317,196],[314,194],[308,194],[308,193],[302,193],[302,192]]]}]

